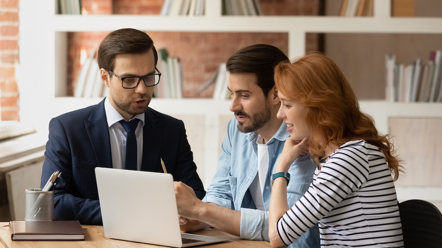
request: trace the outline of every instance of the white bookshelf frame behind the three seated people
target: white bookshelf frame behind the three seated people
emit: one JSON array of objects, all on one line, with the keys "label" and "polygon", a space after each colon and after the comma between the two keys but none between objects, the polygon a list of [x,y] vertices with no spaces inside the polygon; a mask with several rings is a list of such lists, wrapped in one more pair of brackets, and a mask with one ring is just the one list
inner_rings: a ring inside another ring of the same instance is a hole
[{"label": "white bookshelf frame behind the three seated people", "polygon": [[[442,33],[442,18],[394,18],[389,0],[374,0],[373,17],[331,16],[222,16],[221,0],[207,0],[205,16],[58,15],[55,0],[20,0],[20,118],[47,132],[50,118],[98,103],[101,99],[66,97],[67,32],[143,31],[286,32],[288,56],[303,55],[305,34],[313,33]],[[63,83],[60,83],[63,82]],[[205,116],[204,177],[213,175],[218,162],[220,115],[231,114],[229,101],[211,99],[153,99],[151,106],[166,114]],[[383,133],[390,116],[442,117],[442,104],[361,102]],[[208,169],[207,169],[208,168]],[[205,186],[208,184],[205,182]],[[442,198],[441,198],[442,200]]]}]

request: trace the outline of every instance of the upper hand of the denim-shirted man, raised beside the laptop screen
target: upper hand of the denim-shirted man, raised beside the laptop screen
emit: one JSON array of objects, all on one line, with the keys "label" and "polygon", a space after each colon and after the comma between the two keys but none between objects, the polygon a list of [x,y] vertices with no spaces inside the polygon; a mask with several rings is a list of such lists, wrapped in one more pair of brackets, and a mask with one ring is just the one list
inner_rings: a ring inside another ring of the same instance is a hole
[{"label": "upper hand of the denim-shirted man, raised beside the laptop screen", "polygon": [[198,211],[202,207],[202,201],[196,197],[193,189],[183,182],[173,182],[173,184],[175,187],[178,215],[187,219],[196,220],[198,218]]}]

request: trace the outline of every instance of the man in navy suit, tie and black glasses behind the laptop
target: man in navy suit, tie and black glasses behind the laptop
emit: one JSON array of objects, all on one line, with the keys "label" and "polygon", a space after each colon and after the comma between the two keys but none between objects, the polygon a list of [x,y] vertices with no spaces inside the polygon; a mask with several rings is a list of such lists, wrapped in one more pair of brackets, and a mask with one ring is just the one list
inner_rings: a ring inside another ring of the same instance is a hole
[{"label": "man in navy suit, tie and black glasses behind the laptop", "polygon": [[113,31],[101,42],[98,64],[108,96],[49,124],[41,187],[55,170],[61,171],[54,220],[102,224],[97,166],[163,172],[162,158],[175,181],[204,197],[183,122],[148,108],[161,76],[157,60],[152,39],[136,29]]}]

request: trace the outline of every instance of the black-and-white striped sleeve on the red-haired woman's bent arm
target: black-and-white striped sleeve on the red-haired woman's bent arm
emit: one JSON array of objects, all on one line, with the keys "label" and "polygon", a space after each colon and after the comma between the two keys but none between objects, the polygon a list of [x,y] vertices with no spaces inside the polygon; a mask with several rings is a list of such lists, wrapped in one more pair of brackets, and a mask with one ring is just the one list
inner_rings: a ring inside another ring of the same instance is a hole
[{"label": "black-and-white striped sleeve on the red-haired woman's bent arm", "polygon": [[[339,147],[322,166],[308,191],[277,223],[279,237],[289,245],[321,220],[348,194],[357,191],[369,173],[365,142]],[[346,214],[346,213],[340,213]]]}]

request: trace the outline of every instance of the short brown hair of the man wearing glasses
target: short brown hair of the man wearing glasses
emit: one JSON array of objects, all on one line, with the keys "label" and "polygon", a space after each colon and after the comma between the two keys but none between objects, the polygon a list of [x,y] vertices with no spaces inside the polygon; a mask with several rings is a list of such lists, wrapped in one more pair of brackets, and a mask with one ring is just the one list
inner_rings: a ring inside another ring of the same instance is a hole
[{"label": "short brown hair of the man wearing glasses", "polygon": [[147,33],[133,28],[118,29],[108,34],[98,47],[98,66],[113,71],[115,55],[144,54],[152,49],[157,65],[157,50]]}]

